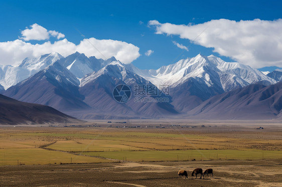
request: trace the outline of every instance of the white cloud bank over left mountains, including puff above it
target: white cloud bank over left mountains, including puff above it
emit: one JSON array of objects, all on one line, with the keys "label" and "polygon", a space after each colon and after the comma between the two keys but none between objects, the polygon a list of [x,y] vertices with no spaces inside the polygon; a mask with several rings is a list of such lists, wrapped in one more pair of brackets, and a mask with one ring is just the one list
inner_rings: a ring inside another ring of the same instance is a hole
[{"label": "white cloud bank over left mountains, including puff above it", "polygon": [[84,38],[75,44],[67,38],[54,42],[30,43],[28,40],[46,40],[50,36],[57,39],[64,37],[64,34],[56,30],[47,30],[41,25],[33,24],[31,29],[23,30],[22,37],[13,41],[0,42],[0,64],[19,64],[26,57],[38,57],[42,54],[59,52],[63,56],[68,56],[76,51],[84,53],[86,56],[96,56],[98,58],[108,58],[114,56],[123,63],[131,63],[140,56],[139,47],[125,41],[112,39],[96,39],[94,37]]}]

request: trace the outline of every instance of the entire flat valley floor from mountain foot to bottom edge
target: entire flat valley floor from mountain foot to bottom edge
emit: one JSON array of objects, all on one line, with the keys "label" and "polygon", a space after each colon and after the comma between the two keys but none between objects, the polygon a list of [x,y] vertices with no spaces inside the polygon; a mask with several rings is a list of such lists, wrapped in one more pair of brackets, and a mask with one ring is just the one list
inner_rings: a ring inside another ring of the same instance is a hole
[{"label": "entire flat valley floor from mountain foot to bottom edge", "polygon": [[[0,129],[0,186],[282,185],[282,126],[275,121],[96,120]],[[194,179],[197,167],[213,168],[214,178]],[[178,178],[180,169],[188,179]]]}]

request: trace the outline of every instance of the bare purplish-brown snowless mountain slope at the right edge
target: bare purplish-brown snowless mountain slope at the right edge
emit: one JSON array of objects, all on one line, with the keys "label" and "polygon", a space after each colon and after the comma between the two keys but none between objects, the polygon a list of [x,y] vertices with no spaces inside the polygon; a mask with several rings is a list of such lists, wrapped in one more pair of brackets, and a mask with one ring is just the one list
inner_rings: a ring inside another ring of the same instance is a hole
[{"label": "bare purplish-brown snowless mountain slope at the right edge", "polygon": [[251,84],[215,95],[188,115],[202,119],[282,119],[282,82],[269,86]]}]

